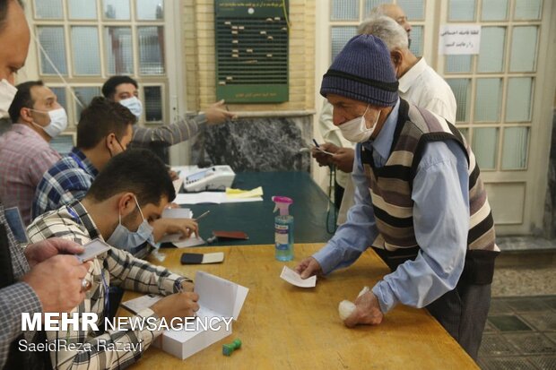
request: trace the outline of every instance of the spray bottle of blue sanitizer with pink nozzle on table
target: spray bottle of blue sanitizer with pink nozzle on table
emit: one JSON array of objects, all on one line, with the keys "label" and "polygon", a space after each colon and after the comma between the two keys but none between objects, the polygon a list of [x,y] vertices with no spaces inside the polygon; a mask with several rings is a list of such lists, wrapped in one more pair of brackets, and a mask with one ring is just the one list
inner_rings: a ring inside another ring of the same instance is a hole
[{"label": "spray bottle of blue sanitizer with pink nozzle on table", "polygon": [[286,196],[273,196],[276,203],[274,212],[280,210],[280,215],[274,218],[275,255],[278,261],[291,261],[293,259],[293,216],[288,207],[293,203]]}]

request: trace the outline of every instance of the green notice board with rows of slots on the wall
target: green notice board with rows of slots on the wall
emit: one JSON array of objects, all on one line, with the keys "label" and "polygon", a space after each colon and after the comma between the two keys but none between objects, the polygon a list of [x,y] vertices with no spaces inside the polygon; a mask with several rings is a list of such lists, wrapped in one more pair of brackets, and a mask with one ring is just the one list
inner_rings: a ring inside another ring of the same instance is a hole
[{"label": "green notice board with rows of slots on the wall", "polygon": [[288,1],[216,0],[214,14],[217,99],[288,101]]}]

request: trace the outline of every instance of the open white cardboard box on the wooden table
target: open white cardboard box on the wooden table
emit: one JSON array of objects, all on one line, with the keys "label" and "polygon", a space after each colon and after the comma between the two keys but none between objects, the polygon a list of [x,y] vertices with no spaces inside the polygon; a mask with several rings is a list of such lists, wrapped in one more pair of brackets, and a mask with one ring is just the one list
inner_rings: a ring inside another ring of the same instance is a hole
[{"label": "open white cardboard box on the wooden table", "polygon": [[[231,320],[237,320],[248,295],[248,288],[214,276],[204,271],[195,275],[195,292],[199,294],[200,309],[197,317],[212,318],[211,330],[204,327],[198,331],[165,331],[154,341],[155,347],[175,357],[186,359],[211,344],[231,334]],[[229,321],[229,325],[226,322]]]}]

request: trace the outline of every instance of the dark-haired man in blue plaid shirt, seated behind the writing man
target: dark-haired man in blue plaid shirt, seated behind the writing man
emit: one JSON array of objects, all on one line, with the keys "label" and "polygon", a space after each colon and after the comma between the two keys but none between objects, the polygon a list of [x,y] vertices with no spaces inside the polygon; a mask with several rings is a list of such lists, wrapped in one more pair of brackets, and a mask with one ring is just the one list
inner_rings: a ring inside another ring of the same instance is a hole
[{"label": "dark-haired man in blue plaid shirt, seated behind the writing man", "polygon": [[[77,146],[40,180],[33,202],[33,218],[82,200],[109,159],[126,151],[135,121],[135,116],[122,105],[102,97],[92,99],[77,125]],[[138,239],[117,240],[112,245],[144,257],[149,245],[165,234],[179,232],[189,236],[197,230],[192,219],[159,219],[152,222],[152,227],[152,232],[145,234],[140,243]],[[149,245],[145,244],[147,241]]]}]

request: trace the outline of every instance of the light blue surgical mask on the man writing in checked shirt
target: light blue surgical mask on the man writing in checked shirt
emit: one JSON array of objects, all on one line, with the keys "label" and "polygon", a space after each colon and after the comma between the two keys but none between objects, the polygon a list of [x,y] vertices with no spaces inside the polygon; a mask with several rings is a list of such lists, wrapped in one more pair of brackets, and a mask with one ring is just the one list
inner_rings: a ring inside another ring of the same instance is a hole
[{"label": "light blue surgical mask on the man writing in checked shirt", "polygon": [[139,207],[139,203],[137,202],[137,198],[135,197],[135,204],[137,205],[137,209],[141,213],[141,217],[143,218],[143,222],[137,228],[137,231],[130,231],[124,225],[122,225],[122,214],[119,213],[119,223],[112,233],[112,235],[107,240],[109,245],[115,246],[118,249],[123,249],[131,254],[137,254],[143,250],[143,248],[139,248],[145,242],[148,242],[150,245],[154,244],[154,237],[152,236],[152,226],[149,225],[146,219],[143,217],[143,211]]}]

